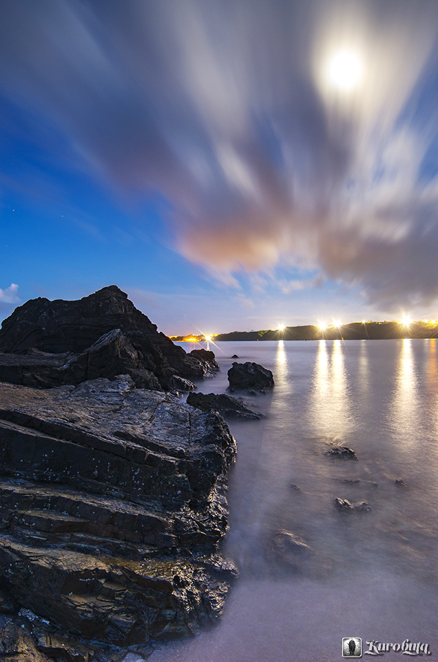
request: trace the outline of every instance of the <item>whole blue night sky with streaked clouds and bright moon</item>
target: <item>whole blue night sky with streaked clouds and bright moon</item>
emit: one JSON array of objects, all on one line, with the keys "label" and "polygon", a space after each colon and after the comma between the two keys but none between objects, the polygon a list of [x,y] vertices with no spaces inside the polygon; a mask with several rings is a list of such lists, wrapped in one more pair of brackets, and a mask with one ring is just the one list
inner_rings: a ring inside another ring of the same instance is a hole
[{"label": "whole blue night sky with streaked clouds and bright moon", "polygon": [[438,317],[436,0],[0,0],[0,319]]}]

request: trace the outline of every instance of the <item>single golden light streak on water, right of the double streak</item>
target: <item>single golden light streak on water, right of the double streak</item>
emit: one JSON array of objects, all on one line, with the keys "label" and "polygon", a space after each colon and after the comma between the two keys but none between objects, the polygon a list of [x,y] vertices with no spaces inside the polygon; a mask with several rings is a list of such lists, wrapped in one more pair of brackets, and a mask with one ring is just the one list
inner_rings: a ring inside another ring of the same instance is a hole
[{"label": "single golden light streak on water, right of the double streak", "polygon": [[415,432],[419,424],[417,369],[412,343],[410,338],[399,341],[395,391],[390,408],[393,428],[403,434],[404,443],[409,443],[410,439],[417,436],[411,435],[410,432]]}]

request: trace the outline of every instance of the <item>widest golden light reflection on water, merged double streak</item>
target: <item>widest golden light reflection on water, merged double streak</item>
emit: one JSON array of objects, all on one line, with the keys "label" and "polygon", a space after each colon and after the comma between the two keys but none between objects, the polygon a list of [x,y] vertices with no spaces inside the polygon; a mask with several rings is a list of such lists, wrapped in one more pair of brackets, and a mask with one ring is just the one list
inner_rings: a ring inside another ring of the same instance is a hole
[{"label": "widest golden light reflection on water, merged double streak", "polygon": [[351,426],[344,352],[340,340],[319,341],[309,407],[309,425],[317,434],[335,437]]}]

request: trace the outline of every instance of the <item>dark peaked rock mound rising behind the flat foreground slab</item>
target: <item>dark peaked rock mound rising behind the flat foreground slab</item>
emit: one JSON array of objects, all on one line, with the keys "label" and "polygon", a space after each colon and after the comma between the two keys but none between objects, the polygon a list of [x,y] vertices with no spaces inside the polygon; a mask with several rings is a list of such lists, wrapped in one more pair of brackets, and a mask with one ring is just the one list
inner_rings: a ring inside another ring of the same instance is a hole
[{"label": "dark peaked rock mound rising behind the flat foreground slab", "polygon": [[43,388],[130,374],[138,388],[190,390],[187,378],[219,370],[213,352],[186,354],[116,285],[79,301],[27,301],[3,321],[0,352],[1,381]]}]

